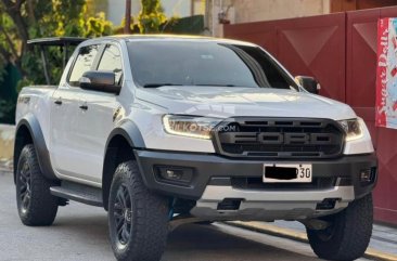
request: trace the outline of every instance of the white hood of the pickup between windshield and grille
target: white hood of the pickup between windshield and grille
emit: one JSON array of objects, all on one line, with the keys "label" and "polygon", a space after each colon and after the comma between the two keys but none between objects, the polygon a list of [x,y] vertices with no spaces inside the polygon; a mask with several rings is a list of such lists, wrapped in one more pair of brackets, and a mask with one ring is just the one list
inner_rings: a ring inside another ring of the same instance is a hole
[{"label": "white hood of the pickup between windshield and grille", "polygon": [[158,105],[169,114],[212,117],[262,116],[329,118],[357,117],[346,104],[293,90],[236,87],[161,87],[137,90],[141,101]]}]

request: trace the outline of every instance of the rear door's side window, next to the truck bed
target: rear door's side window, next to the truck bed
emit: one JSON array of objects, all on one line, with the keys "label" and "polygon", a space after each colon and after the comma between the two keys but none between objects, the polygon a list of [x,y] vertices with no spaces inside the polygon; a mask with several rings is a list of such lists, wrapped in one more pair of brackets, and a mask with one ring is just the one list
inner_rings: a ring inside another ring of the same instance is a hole
[{"label": "rear door's side window, next to the truck bed", "polygon": [[69,75],[69,84],[78,86],[84,73],[91,69],[92,63],[98,53],[98,45],[89,45],[80,48],[75,65]]}]

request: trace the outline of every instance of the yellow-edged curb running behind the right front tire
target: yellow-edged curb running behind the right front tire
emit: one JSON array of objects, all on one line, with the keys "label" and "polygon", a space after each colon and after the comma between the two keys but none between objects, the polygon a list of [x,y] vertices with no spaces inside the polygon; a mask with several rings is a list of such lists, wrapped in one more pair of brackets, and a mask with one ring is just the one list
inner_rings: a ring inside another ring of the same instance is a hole
[{"label": "yellow-edged curb running behind the right front tire", "polygon": [[[291,229],[283,229],[277,225],[259,222],[227,221],[223,223],[227,225],[244,230],[265,233],[271,236],[278,236],[282,238],[293,239],[296,242],[308,243],[306,233],[297,232]],[[363,257],[372,260],[397,261],[397,256],[382,252],[372,248],[368,248]]]}]

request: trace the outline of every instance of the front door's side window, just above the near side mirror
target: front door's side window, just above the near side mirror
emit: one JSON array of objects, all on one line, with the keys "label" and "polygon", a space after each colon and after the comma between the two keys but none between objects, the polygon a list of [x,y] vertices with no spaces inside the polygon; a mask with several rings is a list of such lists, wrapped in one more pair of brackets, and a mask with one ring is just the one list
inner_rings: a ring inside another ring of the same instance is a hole
[{"label": "front door's side window, just above the near side mirror", "polygon": [[111,70],[115,73],[116,84],[121,84],[123,77],[123,65],[121,65],[121,56],[117,47],[108,44],[103,52],[101,57],[101,62],[98,66],[98,70]]}]

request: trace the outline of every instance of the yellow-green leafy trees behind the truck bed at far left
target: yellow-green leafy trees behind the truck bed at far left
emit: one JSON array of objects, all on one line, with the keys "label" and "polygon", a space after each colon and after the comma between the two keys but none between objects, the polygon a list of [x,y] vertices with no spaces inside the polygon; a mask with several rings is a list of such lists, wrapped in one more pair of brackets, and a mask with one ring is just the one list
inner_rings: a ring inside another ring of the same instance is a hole
[{"label": "yellow-green leafy trees behind the truck bed at far left", "polygon": [[[89,2],[92,5],[92,1]],[[3,0],[0,2],[0,71],[15,65],[24,79],[43,83],[40,57],[27,45],[40,37],[99,37],[113,34],[104,13],[92,15],[86,0]],[[59,49],[50,49],[49,64],[62,61]],[[62,66],[51,66],[51,79],[57,81]],[[0,75],[1,77],[1,75]]]}]

